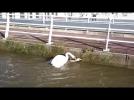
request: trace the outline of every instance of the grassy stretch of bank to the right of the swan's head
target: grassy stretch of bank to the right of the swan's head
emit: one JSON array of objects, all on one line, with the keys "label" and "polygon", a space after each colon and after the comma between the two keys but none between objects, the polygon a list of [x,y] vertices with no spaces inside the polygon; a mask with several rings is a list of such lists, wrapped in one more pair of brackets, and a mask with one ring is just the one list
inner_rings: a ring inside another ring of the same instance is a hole
[{"label": "grassy stretch of bank to the right of the swan's head", "polygon": [[84,53],[81,54],[82,62],[89,64],[99,64],[108,66],[118,66],[124,67],[125,56],[117,55],[110,52],[96,52],[92,49],[86,49]]}]

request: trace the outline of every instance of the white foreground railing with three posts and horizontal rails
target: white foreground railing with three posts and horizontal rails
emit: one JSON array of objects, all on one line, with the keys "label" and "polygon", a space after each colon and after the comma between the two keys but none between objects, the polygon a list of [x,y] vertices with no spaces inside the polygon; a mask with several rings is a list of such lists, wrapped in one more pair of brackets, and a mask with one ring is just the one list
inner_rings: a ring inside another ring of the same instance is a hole
[{"label": "white foreground railing with three posts and horizontal rails", "polygon": [[[109,22],[109,27],[107,28],[99,28],[99,27],[78,27],[78,26],[65,26],[65,25],[54,25],[53,24],[53,21],[54,21],[54,17],[55,16],[52,16],[51,15],[51,22],[50,24],[46,24],[45,21],[46,19],[43,18],[43,23],[42,24],[32,24],[32,23],[19,23],[19,22],[10,22],[9,20],[9,15],[7,15],[7,22],[0,22],[0,23],[6,23],[6,30],[0,30],[0,31],[5,31],[5,38],[4,39],[7,39],[8,38],[8,33],[9,32],[19,32],[19,33],[24,33],[24,34],[38,34],[38,35],[49,35],[49,39],[48,39],[48,44],[51,45],[51,37],[52,36],[55,36],[55,37],[69,37],[69,38],[77,38],[77,39],[86,39],[86,40],[96,40],[96,41],[106,41],[106,47],[104,49],[104,51],[109,51],[108,49],[108,45],[109,45],[109,42],[123,42],[123,43],[134,43],[134,41],[122,41],[122,40],[112,40],[109,38],[109,35],[110,35],[110,32],[118,32],[118,31],[122,31],[122,32],[131,32],[131,33],[134,33],[134,30],[126,30],[126,29],[112,29],[111,28],[111,22],[112,22],[112,19],[110,19],[110,22]],[[45,15],[43,15],[43,17],[46,17]],[[67,17],[64,17],[66,19],[66,22],[68,21]],[[73,17],[73,18],[76,18],[76,17]],[[89,22],[89,19],[88,19],[88,22]],[[35,25],[35,26],[42,26],[42,27],[50,27],[50,33],[49,34],[43,34],[43,33],[33,33],[33,32],[23,32],[23,31],[10,31],[9,30],[9,27],[10,25],[13,25],[13,24],[20,24],[20,25]],[[100,39],[100,38],[87,38],[87,37],[78,37],[78,36],[65,36],[65,35],[52,35],[52,32],[53,32],[53,28],[71,28],[71,29],[84,29],[84,30],[103,30],[103,31],[108,31],[108,34],[107,34],[107,37],[106,39]]]}]

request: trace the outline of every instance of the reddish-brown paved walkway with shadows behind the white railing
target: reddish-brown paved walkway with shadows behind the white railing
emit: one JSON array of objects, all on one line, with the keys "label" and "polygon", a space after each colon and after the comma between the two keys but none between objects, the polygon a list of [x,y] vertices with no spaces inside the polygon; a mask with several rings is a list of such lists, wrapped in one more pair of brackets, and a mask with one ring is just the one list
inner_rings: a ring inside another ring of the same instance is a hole
[{"label": "reddish-brown paved walkway with shadows behind the white railing", "polygon": [[[0,28],[2,29],[2,28]],[[11,30],[22,30],[22,31],[29,31],[24,29],[11,29]],[[30,30],[29,32],[42,32],[41,34],[28,34],[28,33],[20,33],[20,32],[10,32],[9,38],[15,41],[22,41],[22,42],[31,42],[31,43],[47,43],[48,41],[48,33],[49,31],[41,31],[41,30]],[[89,32],[90,33],[90,32]],[[105,41],[95,41],[95,40],[88,40],[86,38],[101,38],[105,39],[106,34],[100,33],[100,35],[92,35],[87,34],[86,32],[78,32],[78,33],[69,33],[69,32],[53,32],[52,42],[54,43],[61,43],[68,47],[76,47],[76,48],[88,48],[93,47],[97,50],[103,50],[105,48]],[[1,31],[1,38],[4,36],[4,32]],[[64,37],[63,37],[64,35]],[[70,37],[69,37],[70,36]],[[76,37],[83,37],[83,39],[76,38]],[[84,39],[85,38],[85,39]],[[134,38],[123,38],[110,35],[112,39],[120,39],[120,40],[127,40],[127,41],[134,41]],[[115,43],[110,42],[109,48],[111,52],[116,53],[125,53],[125,54],[133,54],[134,55],[134,43]]]}]

